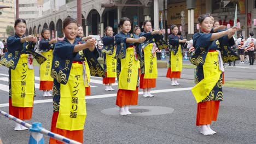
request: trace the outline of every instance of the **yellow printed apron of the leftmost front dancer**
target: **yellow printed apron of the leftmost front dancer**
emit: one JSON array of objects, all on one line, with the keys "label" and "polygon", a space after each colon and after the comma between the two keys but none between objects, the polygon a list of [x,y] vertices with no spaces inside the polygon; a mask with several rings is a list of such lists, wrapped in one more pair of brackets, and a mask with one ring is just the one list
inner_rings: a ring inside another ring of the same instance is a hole
[{"label": "yellow printed apron of the leftmost front dancer", "polygon": [[16,68],[11,69],[11,103],[17,107],[33,107],[34,70],[27,67],[27,55],[21,54]]}]

